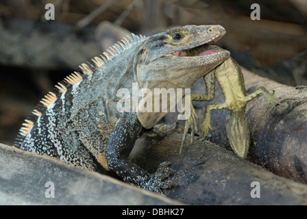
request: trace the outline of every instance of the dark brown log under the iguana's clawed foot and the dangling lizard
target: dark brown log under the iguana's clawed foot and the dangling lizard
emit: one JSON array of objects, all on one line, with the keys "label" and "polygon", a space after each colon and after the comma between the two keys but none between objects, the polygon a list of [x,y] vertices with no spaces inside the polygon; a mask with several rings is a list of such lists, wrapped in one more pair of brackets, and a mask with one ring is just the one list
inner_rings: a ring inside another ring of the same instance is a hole
[{"label": "dark brown log under the iguana's clawed foot and the dangling lizard", "polygon": [[[208,141],[195,139],[195,144],[184,147],[181,157],[181,140],[179,133],[143,137],[130,154],[133,162],[149,172],[156,171],[161,162],[171,162],[177,174],[170,180],[178,186],[164,190],[169,198],[191,205],[307,204],[307,185],[278,177]],[[260,198],[251,197],[253,182],[260,186]]]}]

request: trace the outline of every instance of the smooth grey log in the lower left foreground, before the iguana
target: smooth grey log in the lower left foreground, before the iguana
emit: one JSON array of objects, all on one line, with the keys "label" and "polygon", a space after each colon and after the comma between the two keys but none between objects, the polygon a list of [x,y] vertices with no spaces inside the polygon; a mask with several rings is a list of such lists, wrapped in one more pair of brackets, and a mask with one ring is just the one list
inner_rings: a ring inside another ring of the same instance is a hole
[{"label": "smooth grey log in the lower left foreground, before the iguana", "polygon": [[0,205],[178,204],[106,175],[0,144]]}]

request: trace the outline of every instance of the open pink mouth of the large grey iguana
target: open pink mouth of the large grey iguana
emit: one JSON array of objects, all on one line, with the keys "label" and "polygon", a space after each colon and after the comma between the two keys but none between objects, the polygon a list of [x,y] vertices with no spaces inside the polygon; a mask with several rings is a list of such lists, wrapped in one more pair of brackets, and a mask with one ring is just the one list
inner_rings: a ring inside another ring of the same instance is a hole
[{"label": "open pink mouth of the large grey iguana", "polygon": [[212,53],[217,53],[219,51],[210,49],[209,46],[213,42],[217,42],[219,39],[222,38],[222,35],[217,36],[216,38],[210,40],[209,42],[206,42],[205,44],[201,44],[197,47],[193,47],[191,49],[183,49],[174,51],[173,53],[169,53],[166,56],[201,56],[201,55],[210,55]]}]

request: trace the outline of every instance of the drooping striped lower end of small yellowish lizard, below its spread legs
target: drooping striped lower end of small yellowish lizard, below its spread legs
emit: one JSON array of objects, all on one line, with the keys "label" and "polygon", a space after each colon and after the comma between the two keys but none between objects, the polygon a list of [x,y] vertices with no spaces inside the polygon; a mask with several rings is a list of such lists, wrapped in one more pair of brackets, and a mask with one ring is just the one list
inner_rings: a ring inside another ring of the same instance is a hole
[{"label": "drooping striped lower end of small yellowish lizard, below its spread legs", "polygon": [[245,120],[245,108],[230,113],[230,121],[226,126],[226,131],[232,150],[239,157],[245,159],[249,149],[249,129]]}]

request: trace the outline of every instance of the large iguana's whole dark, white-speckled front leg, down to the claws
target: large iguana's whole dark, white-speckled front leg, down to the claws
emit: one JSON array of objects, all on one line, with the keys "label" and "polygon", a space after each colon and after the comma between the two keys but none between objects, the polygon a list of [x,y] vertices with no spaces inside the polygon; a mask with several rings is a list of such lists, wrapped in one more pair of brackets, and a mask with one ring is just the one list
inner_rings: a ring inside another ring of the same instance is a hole
[{"label": "large iguana's whole dark, white-speckled front leg, down to the claws", "polygon": [[162,181],[175,172],[168,167],[170,163],[160,164],[158,170],[149,175],[148,172],[127,159],[142,129],[136,114],[122,114],[108,140],[106,149],[108,167],[125,182],[162,194],[161,188],[171,188],[172,185],[175,185],[171,181]]}]

